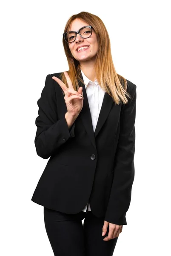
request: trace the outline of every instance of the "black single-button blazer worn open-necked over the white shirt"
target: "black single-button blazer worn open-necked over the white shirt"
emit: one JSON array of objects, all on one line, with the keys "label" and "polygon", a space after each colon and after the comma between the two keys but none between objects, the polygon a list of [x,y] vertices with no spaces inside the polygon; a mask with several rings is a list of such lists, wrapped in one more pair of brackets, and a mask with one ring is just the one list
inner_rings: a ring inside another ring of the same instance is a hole
[{"label": "black single-button blazer worn open-necked over the white shirt", "polygon": [[[35,124],[37,154],[48,159],[31,200],[49,209],[74,214],[90,202],[92,213],[126,225],[134,181],[136,85],[128,81],[131,99],[115,105],[105,93],[95,132],[83,86],[83,109],[71,129],[63,90],[46,77]],[[82,75],[80,77],[83,79]]]}]

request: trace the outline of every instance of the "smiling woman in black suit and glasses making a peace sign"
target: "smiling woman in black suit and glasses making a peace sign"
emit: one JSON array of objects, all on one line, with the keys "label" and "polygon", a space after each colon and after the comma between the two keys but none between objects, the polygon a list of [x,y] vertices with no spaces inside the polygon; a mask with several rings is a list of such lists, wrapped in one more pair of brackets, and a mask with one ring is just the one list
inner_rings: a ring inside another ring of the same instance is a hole
[{"label": "smiling woman in black suit and glasses making a peace sign", "polygon": [[71,16],[63,45],[69,71],[48,75],[37,101],[36,151],[50,159],[31,200],[54,255],[111,256],[134,181],[136,85],[116,73],[96,15]]}]

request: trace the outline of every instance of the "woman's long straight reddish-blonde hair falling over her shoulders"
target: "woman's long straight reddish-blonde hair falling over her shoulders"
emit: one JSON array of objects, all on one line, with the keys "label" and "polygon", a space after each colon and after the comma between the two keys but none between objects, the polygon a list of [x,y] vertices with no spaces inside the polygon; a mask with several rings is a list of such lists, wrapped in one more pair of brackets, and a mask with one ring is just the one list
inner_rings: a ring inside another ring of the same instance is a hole
[{"label": "woman's long straight reddish-blonde hair falling over her shoulders", "polygon": [[[119,105],[121,101],[126,104],[128,102],[126,95],[131,98],[129,93],[126,91],[127,81],[123,76],[116,73],[111,56],[110,39],[103,21],[98,16],[89,12],[80,12],[69,18],[66,23],[64,33],[69,30],[71,22],[75,19],[87,22],[93,27],[94,32],[97,35],[99,47],[95,61],[95,73],[98,83],[102,89],[112,97],[117,105]],[[66,43],[64,38],[63,47],[69,66],[67,73],[71,79],[74,90],[78,90],[78,79],[84,83],[84,81],[80,79],[80,62],[73,58],[68,47],[68,43]],[[68,87],[64,73],[61,73],[60,79]]]}]

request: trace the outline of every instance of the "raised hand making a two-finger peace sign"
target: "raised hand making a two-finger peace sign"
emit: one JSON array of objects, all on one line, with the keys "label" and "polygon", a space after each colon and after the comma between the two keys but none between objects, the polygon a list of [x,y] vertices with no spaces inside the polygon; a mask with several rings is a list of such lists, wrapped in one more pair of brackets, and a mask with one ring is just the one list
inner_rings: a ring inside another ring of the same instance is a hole
[{"label": "raised hand making a two-finger peace sign", "polygon": [[68,88],[66,85],[56,76],[53,76],[54,79],[62,88],[65,93],[65,102],[68,110],[68,115],[77,117],[83,108],[83,87],[79,87],[78,92],[74,90],[72,86],[71,79],[67,72],[64,72],[64,75],[67,80]]}]

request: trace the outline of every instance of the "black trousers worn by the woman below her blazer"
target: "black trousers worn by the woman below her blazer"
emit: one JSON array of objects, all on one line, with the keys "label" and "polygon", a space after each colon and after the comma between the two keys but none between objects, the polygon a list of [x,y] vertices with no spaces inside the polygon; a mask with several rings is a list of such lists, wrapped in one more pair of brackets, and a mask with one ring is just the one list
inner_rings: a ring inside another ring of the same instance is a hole
[{"label": "black trousers worn by the woman below her blazer", "polygon": [[[84,219],[84,223],[82,220]],[[103,241],[104,218],[91,211],[66,214],[44,207],[46,233],[55,256],[112,256],[118,237]]]}]

